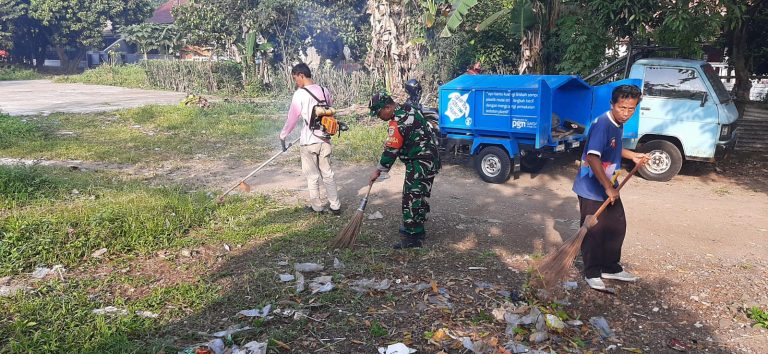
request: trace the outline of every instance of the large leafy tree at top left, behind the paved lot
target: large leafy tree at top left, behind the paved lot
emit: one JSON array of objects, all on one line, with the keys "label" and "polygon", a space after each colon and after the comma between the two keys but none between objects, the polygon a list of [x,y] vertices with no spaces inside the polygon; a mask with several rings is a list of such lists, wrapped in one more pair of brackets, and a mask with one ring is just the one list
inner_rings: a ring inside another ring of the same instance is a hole
[{"label": "large leafy tree at top left, behind the paved lot", "polygon": [[89,47],[101,44],[104,29],[144,21],[148,0],[30,0],[29,16],[42,24],[66,72],[76,71]]}]

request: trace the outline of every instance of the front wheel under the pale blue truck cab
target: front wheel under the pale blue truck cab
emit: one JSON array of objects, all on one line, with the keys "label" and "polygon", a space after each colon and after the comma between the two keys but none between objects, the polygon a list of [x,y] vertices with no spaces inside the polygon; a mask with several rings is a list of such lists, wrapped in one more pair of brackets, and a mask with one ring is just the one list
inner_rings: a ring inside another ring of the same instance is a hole
[{"label": "front wheel under the pale blue truck cab", "polygon": [[651,159],[639,172],[649,181],[666,182],[675,177],[683,166],[680,149],[666,140],[652,140],[640,147],[640,152],[647,153]]}]

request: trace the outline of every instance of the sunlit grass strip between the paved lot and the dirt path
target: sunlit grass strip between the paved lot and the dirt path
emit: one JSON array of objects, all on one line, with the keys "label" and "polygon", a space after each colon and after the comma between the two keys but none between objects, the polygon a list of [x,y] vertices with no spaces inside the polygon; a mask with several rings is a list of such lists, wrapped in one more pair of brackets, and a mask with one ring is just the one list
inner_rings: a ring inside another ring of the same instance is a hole
[{"label": "sunlit grass strip between the paved lot and the dirt path", "polygon": [[[255,163],[276,151],[282,106],[223,103],[209,109],[145,106],[116,113],[0,115],[0,156],[147,165],[210,158]],[[297,129],[298,130],[298,129]],[[334,138],[334,156],[372,162],[383,125],[352,123]]]}]

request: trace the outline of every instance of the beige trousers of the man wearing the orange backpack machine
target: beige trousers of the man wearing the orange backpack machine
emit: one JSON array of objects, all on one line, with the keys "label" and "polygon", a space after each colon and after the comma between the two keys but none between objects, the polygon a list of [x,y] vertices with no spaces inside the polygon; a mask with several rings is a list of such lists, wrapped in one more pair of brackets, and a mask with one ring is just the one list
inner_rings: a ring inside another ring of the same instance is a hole
[{"label": "beige trousers of the man wearing the orange backpack machine", "polygon": [[320,197],[320,179],[325,184],[325,195],[328,197],[330,208],[341,208],[336,182],[333,180],[331,169],[331,152],[333,147],[329,143],[317,143],[301,146],[301,172],[307,178],[309,188],[309,202],[312,209],[322,211],[325,201]]}]

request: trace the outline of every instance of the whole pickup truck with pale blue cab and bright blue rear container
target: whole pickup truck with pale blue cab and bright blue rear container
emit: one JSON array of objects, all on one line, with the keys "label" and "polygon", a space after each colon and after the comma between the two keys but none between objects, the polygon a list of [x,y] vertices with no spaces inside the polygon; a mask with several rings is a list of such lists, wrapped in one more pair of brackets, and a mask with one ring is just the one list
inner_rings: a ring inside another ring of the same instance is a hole
[{"label": "whole pickup truck with pale blue cab and bright blue rear container", "polygon": [[714,162],[735,144],[738,112],[714,69],[703,61],[656,58],[638,60],[628,78],[600,86],[572,75],[459,76],[439,89],[442,147],[473,157],[484,181],[504,183],[580,149],[621,84],[643,91],[623,143],[651,155],[639,171],[644,178],[667,181],[684,161]]}]

